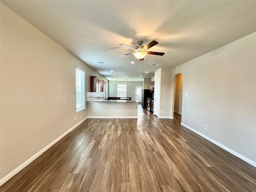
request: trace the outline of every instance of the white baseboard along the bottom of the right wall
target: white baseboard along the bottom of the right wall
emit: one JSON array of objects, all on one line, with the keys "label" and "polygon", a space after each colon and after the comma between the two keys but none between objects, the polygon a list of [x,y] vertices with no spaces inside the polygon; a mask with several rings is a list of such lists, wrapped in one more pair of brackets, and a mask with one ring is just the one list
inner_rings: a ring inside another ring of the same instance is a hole
[{"label": "white baseboard along the bottom of the right wall", "polygon": [[227,152],[230,152],[230,153],[233,154],[234,156],[237,156],[238,158],[244,160],[244,161],[247,162],[248,164],[250,164],[250,165],[256,167],[256,162],[250,160],[249,158],[247,158],[247,157],[245,157],[245,156],[239,154],[238,152],[235,152],[234,150],[232,150],[232,149],[230,149],[230,148],[228,148],[228,147],[222,145],[221,143],[219,143],[219,142],[213,140],[212,138],[210,138],[210,137],[208,137],[208,136],[206,136],[206,135],[200,133],[199,131],[194,130],[193,128],[191,128],[190,126],[187,126],[187,125],[184,124],[184,123],[181,123],[181,125],[183,125],[184,127],[188,128],[189,130],[192,130],[193,132],[195,132],[196,134],[202,136],[203,138],[207,139],[208,141],[210,141],[210,142],[216,144],[217,146],[219,146],[220,148],[226,150]]}]

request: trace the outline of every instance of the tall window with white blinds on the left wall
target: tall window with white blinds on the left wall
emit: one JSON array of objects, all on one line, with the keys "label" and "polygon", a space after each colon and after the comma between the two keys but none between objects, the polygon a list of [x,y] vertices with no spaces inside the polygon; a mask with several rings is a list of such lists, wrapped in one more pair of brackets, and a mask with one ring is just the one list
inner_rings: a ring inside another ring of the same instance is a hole
[{"label": "tall window with white blinds on the left wall", "polygon": [[85,109],[85,72],[76,68],[76,112]]}]

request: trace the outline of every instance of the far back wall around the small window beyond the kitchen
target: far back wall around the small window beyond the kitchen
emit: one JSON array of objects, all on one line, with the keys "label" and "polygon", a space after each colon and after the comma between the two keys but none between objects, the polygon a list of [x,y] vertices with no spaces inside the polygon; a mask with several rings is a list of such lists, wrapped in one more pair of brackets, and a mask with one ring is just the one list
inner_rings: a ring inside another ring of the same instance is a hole
[{"label": "far back wall around the small window beyond the kitchen", "polygon": [[108,96],[117,96],[117,84],[127,84],[126,97],[132,97],[135,100],[135,86],[143,86],[142,81],[109,81],[108,82]]}]

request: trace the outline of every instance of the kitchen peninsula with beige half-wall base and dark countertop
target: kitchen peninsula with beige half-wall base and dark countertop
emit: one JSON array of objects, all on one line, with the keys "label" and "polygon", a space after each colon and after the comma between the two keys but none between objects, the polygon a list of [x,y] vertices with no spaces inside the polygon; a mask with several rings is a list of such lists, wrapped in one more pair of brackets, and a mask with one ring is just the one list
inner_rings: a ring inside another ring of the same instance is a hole
[{"label": "kitchen peninsula with beige half-wall base and dark countertop", "polygon": [[138,118],[138,101],[93,99],[87,101],[88,118]]}]

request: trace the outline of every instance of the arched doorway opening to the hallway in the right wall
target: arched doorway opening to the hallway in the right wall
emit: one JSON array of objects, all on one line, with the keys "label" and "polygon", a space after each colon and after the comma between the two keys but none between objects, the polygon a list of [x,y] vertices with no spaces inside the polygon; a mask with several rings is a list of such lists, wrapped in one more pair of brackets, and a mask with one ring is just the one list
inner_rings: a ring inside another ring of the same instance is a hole
[{"label": "arched doorway opening to the hallway in the right wall", "polygon": [[178,73],[174,76],[174,103],[173,117],[174,120],[181,122],[182,116],[182,95],[183,95],[183,76]]}]

